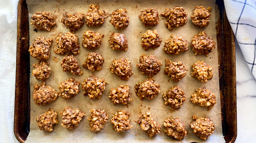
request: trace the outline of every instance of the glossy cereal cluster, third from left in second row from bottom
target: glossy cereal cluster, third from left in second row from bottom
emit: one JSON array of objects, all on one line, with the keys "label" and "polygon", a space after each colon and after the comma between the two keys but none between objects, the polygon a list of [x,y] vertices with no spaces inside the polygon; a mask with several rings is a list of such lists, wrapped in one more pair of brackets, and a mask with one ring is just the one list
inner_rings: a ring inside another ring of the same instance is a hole
[{"label": "glossy cereal cluster, third from left in second row from bottom", "polygon": [[102,92],[105,90],[106,83],[103,78],[98,78],[92,73],[82,83],[84,96],[88,95],[90,99],[100,99]]}]

